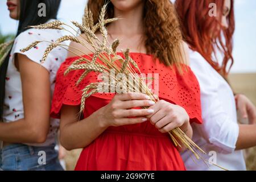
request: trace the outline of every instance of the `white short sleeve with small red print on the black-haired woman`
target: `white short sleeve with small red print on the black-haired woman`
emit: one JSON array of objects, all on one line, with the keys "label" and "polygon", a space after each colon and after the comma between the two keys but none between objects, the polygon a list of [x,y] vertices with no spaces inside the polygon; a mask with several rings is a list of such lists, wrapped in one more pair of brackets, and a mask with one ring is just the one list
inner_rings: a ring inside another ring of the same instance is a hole
[{"label": "white short sleeve with small red print on the black-haired woman", "polygon": [[21,49],[27,47],[28,45],[30,45],[31,43],[33,43],[35,41],[47,40],[47,41],[51,42],[51,40],[48,40],[49,38],[48,38],[47,34],[49,34],[49,32],[47,32],[46,30],[44,30],[44,31],[35,30],[34,28],[31,28],[31,29],[28,29],[28,30],[22,32],[15,39],[14,47],[13,47],[13,51],[14,51],[13,54],[20,53],[22,55],[25,55],[31,61],[34,61],[35,63],[42,65],[44,68],[46,68],[48,71],[50,71],[51,70],[51,61],[54,59],[54,57],[52,57],[54,55],[54,53],[49,53],[47,60],[43,64],[41,64],[41,60],[44,55],[44,51],[49,46],[50,43],[42,42],[42,43],[39,43],[34,48],[31,48],[29,51],[20,52]]}]

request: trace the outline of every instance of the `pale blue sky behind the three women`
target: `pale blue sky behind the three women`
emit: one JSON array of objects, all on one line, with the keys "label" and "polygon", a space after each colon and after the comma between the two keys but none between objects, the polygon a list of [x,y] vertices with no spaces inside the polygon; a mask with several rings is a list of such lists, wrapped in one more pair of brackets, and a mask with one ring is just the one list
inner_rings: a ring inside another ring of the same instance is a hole
[{"label": "pale blue sky behind the three women", "polygon": [[[87,0],[62,0],[58,19],[69,23],[81,22]],[[200,0],[197,0],[200,1]],[[234,0],[236,31],[234,34],[234,65],[232,73],[256,73],[256,1]],[[6,0],[0,0],[0,30],[15,34],[18,22],[9,18]]]}]

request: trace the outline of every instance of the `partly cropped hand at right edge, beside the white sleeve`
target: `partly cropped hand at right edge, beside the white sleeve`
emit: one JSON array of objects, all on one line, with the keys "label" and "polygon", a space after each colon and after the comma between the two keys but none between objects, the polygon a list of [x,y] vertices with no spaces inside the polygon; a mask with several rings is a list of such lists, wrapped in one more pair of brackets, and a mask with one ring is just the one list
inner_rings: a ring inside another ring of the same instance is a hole
[{"label": "partly cropped hand at right edge, beside the white sleeve", "polygon": [[256,108],[253,103],[244,96],[243,94],[237,94],[236,98],[236,105],[237,110],[240,111],[242,117],[244,119],[249,119],[249,123],[251,125],[256,123]]}]

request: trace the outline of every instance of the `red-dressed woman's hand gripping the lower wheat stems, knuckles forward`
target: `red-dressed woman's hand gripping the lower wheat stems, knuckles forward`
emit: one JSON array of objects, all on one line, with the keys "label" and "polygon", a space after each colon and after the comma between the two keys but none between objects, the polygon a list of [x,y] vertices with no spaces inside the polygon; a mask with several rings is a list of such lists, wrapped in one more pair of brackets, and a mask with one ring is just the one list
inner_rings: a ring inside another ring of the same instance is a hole
[{"label": "red-dressed woman's hand gripping the lower wheat stems, knuckles forward", "polygon": [[161,133],[168,133],[181,126],[187,129],[189,125],[187,111],[181,106],[160,100],[155,105],[150,106],[149,109],[153,109],[154,113],[148,115],[147,118]]}]

